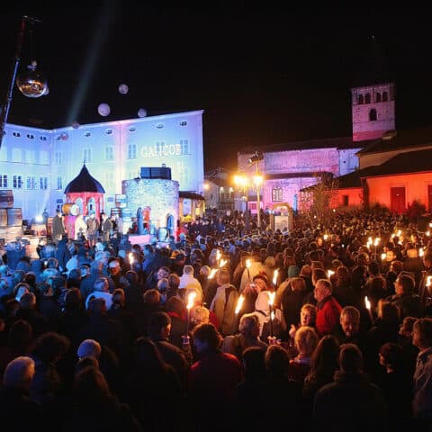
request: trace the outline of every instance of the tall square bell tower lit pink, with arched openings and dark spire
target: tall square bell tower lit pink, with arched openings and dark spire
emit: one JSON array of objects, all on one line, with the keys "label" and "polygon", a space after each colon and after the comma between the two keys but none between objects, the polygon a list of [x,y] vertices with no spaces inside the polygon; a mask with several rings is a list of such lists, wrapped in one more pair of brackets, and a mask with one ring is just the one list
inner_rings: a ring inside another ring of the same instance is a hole
[{"label": "tall square bell tower lit pink, with arched openings and dark spire", "polygon": [[395,127],[395,85],[379,42],[372,37],[351,88],[353,140],[380,139]]}]

